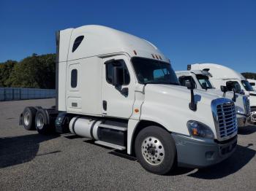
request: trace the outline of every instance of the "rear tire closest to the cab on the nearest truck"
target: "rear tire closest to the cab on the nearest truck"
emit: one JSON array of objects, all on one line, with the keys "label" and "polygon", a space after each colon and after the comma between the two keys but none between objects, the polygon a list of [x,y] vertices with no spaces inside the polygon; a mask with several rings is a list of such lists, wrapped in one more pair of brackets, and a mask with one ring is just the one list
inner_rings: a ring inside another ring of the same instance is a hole
[{"label": "rear tire closest to the cab on the nearest truck", "polygon": [[38,109],[35,117],[35,126],[39,134],[47,135],[52,132],[48,122],[48,114],[44,109]]}]

